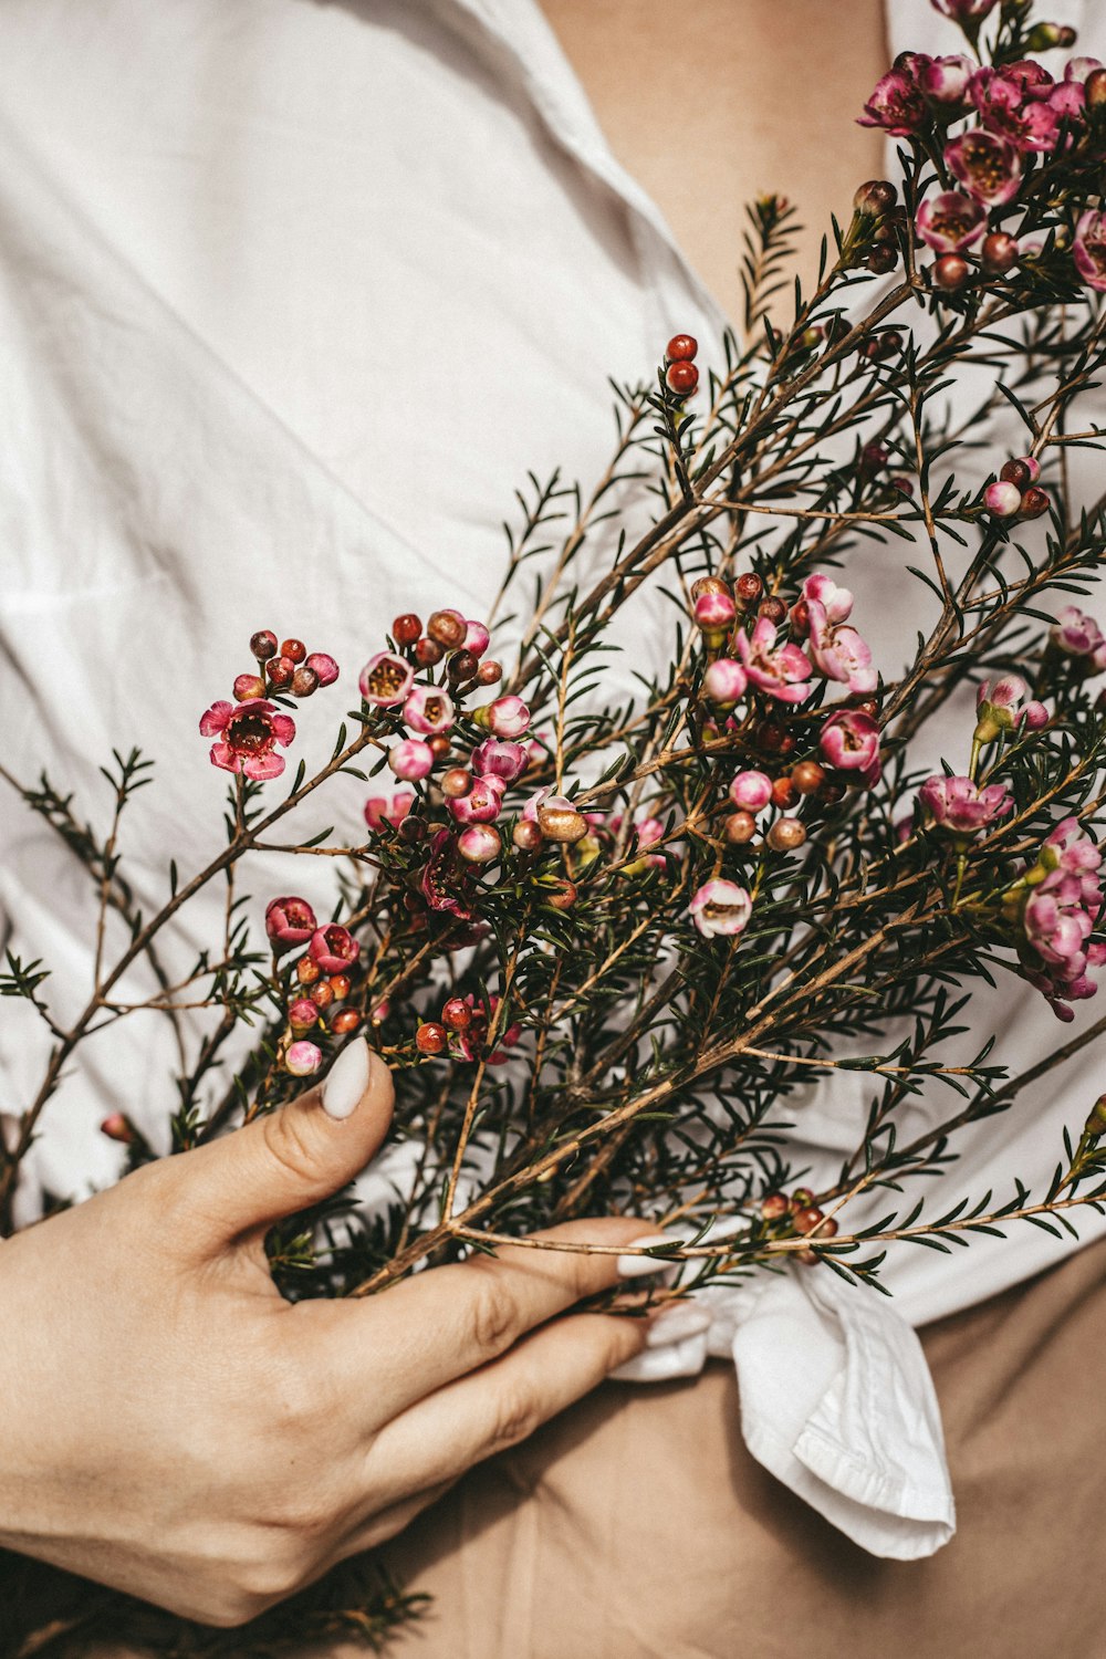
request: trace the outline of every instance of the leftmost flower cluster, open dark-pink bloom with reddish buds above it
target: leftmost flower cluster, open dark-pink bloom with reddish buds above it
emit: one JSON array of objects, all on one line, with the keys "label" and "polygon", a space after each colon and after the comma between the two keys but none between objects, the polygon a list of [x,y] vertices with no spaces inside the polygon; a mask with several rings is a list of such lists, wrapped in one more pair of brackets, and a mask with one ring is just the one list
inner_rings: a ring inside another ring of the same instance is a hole
[{"label": "leftmost flower cluster, open dark-pink bloom with reddish buds above it", "polygon": [[279,642],[270,629],[254,634],[250,650],[264,677],[262,672],[235,675],[234,702],[214,702],[201,715],[199,730],[201,737],[216,740],[212,766],[264,783],[280,776],[285,761],[279,750],[295,737],[295,720],[279,710],[269,693],[312,697],[320,685],[333,685],[338,664],[325,650],[308,655],[302,639]]}]

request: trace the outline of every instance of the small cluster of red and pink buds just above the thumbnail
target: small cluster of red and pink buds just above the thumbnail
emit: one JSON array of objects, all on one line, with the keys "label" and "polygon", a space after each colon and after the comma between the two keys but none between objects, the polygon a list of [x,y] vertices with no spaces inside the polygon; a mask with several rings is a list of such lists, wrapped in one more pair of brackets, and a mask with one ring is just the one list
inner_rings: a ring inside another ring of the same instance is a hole
[{"label": "small cluster of red and pink buds just above the thumbnail", "polygon": [[274,961],[302,951],[290,974],[289,1029],[280,1055],[292,1077],[310,1077],[323,1063],[312,1034],[322,1027],[333,1037],[348,1037],[361,1024],[357,1009],[342,1007],[352,990],[350,972],[360,946],[348,927],[337,922],[320,927],[312,906],[297,894],[269,901],[265,932]]}]

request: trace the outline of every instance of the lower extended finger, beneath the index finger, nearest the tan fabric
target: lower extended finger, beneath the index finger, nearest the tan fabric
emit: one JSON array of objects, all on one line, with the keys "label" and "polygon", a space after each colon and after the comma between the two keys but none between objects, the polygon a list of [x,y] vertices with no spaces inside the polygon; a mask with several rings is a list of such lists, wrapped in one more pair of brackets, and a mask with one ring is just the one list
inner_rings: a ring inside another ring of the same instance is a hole
[{"label": "lower extended finger, beneath the index finger, nearest the tan fabric", "polygon": [[645,1319],[572,1314],[420,1400],[376,1435],[366,1455],[373,1508],[454,1480],[526,1440],[640,1354],[645,1334]]}]

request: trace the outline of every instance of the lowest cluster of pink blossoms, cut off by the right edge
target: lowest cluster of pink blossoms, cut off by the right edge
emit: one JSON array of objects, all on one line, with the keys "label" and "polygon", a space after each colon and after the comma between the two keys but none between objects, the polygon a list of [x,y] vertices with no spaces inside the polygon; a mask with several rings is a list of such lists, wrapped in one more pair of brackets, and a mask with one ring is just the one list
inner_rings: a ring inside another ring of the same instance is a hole
[{"label": "lowest cluster of pink blossoms, cut off by the right edge", "polygon": [[1061,1020],[1074,1019],[1071,1002],[1098,992],[1089,969],[1106,964],[1106,944],[1091,939],[1103,914],[1101,863],[1078,818],[1065,818],[1003,896],[1025,977]]}]

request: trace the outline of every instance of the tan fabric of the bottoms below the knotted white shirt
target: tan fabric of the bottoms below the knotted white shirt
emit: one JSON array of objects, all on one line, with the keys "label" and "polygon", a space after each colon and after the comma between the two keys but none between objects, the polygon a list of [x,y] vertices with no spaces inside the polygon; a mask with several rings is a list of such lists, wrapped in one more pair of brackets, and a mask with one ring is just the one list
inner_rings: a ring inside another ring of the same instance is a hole
[{"label": "tan fabric of the bottoms below the knotted white shirt", "polygon": [[922,1339],[958,1505],[930,1559],[867,1556],[764,1473],[713,1362],[607,1384],[408,1528],[388,1561],[434,1606],[390,1656],[1101,1659],[1106,1243]]}]

